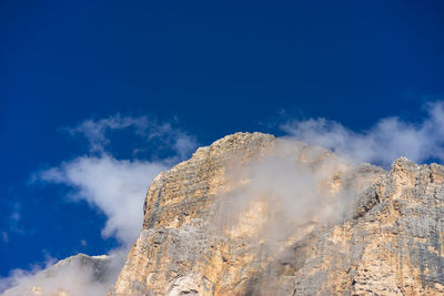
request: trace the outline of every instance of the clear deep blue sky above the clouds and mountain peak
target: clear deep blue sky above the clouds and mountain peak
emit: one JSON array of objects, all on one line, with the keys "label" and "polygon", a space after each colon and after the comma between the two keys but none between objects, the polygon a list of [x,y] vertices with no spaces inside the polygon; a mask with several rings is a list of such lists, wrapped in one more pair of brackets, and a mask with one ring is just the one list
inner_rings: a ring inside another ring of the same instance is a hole
[{"label": "clear deep blue sky above the clouds and mountain peak", "polygon": [[1,1],[0,276],[114,246],[67,188],[28,184],[84,151],[61,126],[148,114],[206,145],[282,116],[414,120],[443,96],[443,1]]}]

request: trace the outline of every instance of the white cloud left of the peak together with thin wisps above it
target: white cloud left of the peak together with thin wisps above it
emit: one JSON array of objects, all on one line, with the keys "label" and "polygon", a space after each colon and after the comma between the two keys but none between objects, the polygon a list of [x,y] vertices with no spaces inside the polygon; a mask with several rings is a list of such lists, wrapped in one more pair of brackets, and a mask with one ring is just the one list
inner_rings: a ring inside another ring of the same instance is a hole
[{"label": "white cloud left of the peak together with thin wisps above it", "polygon": [[[115,159],[107,151],[112,144],[109,135],[123,129],[143,137],[144,145],[150,145],[150,141],[154,140],[157,145],[161,142],[170,149],[170,156],[155,161]],[[91,154],[46,170],[38,180],[68,185],[72,188],[71,200],[84,200],[102,211],[108,217],[102,234],[117,237],[123,245],[130,245],[141,229],[143,201],[151,180],[196,146],[194,137],[188,133],[170,123],[150,121],[147,116],[118,114],[97,121],[85,120],[78,126],[64,130],[85,136]]]}]

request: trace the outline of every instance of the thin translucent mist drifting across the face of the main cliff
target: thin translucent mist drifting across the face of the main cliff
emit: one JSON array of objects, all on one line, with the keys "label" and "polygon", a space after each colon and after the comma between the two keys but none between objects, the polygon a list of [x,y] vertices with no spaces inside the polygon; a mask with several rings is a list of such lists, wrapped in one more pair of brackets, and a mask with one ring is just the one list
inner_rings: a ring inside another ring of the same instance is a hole
[{"label": "thin translucent mist drifting across the face of the main cliff", "polygon": [[285,242],[307,225],[342,220],[381,172],[320,146],[276,139],[261,157],[228,170],[234,190],[220,196],[215,227],[229,236]]}]

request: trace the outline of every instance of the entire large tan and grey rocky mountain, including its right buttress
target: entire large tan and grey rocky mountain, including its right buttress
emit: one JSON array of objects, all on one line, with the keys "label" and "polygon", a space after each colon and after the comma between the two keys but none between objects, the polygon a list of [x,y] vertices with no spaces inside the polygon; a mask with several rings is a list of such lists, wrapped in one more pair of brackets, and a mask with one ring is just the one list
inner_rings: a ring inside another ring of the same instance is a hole
[{"label": "entire large tan and grey rocky mountain, including its right buttress", "polygon": [[444,169],[260,133],[155,177],[109,295],[444,294]]}]

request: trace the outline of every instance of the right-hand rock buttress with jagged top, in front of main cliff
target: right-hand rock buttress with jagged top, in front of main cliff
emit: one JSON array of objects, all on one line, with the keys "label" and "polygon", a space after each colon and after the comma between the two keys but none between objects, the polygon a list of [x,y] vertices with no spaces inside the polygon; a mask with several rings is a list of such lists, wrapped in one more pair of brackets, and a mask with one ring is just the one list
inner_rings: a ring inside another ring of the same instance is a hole
[{"label": "right-hand rock buttress with jagged top, in front of main cliff", "polygon": [[352,218],[316,236],[295,295],[442,295],[442,166],[397,160]]}]

